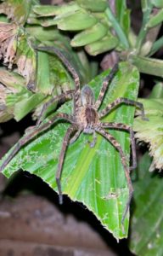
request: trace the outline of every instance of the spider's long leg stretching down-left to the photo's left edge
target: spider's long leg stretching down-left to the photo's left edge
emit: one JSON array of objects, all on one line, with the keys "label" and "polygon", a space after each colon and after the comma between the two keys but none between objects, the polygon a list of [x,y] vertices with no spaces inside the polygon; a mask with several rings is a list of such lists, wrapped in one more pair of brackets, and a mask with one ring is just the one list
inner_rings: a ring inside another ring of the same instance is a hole
[{"label": "spider's long leg stretching down-left to the photo's left edge", "polygon": [[73,122],[73,119],[70,115],[67,113],[57,113],[52,119],[49,119],[47,123],[40,125],[40,126],[34,126],[33,131],[29,131],[25,134],[24,137],[20,138],[18,143],[15,144],[13,150],[8,154],[8,157],[3,161],[2,166],[0,166],[0,171],[3,171],[3,169],[8,165],[8,162],[14,158],[14,155],[17,154],[26,143],[30,142],[34,137],[37,136],[37,134],[41,133],[42,131],[46,131],[57,119],[65,119],[69,121],[70,123]]}]

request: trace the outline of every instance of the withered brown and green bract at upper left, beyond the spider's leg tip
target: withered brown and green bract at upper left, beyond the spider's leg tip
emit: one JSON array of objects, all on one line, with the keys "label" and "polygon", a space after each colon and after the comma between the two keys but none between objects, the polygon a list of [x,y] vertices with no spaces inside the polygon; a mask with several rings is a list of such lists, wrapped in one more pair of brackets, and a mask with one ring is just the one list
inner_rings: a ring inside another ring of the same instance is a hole
[{"label": "withered brown and green bract at upper left, beyond the spider's leg tip", "polygon": [[0,58],[9,69],[16,64],[26,84],[32,83],[36,71],[36,54],[29,42],[23,27],[0,22]]}]

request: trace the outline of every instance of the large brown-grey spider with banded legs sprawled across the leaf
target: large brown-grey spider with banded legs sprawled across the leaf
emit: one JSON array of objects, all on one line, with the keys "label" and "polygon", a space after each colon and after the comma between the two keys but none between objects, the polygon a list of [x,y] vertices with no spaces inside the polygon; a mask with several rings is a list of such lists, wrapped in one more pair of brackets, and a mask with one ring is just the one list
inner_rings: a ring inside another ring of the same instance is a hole
[{"label": "large brown-grey spider with banded legs sprawled across the leaf", "polygon": [[[129,209],[130,201],[132,199],[132,192],[133,192],[132,181],[130,178],[130,170],[135,169],[137,166],[134,133],[132,131],[132,127],[130,127],[129,125],[125,125],[121,123],[101,122],[100,119],[102,119],[105,115],[110,113],[110,111],[113,108],[121,105],[122,103],[133,105],[140,108],[142,117],[143,119],[145,119],[143,104],[140,102],[135,102],[130,99],[121,97],[121,98],[117,98],[114,102],[110,103],[106,108],[98,112],[98,108],[103,102],[105,92],[108,89],[110,82],[115,77],[115,73],[118,71],[118,63],[115,64],[115,67],[113,67],[110,74],[104,78],[101,90],[98,95],[98,99],[95,101],[93,96],[93,91],[88,85],[84,85],[81,90],[80,79],[78,74],[76,73],[75,68],[71,66],[70,61],[66,59],[65,55],[59,49],[56,49],[54,47],[48,47],[48,46],[43,46],[43,47],[36,46],[35,49],[40,51],[50,51],[59,57],[59,59],[64,63],[65,67],[68,69],[68,71],[71,73],[74,79],[75,90],[67,90],[65,91],[65,93],[62,93],[59,96],[53,97],[50,101],[44,104],[42,108],[42,112],[37,120],[37,124],[33,127],[32,131],[27,132],[27,134],[25,134],[24,137],[20,138],[20,141],[15,145],[11,153],[8,154],[7,159],[3,161],[2,166],[0,166],[0,171],[2,171],[3,168],[8,165],[8,162],[13,159],[14,155],[18,153],[20,148],[22,148],[23,145],[31,141],[32,138],[36,137],[38,133],[48,130],[48,128],[51,125],[53,125],[53,123],[55,123],[58,119],[65,119],[71,125],[66,131],[65,137],[63,139],[62,148],[59,154],[58,169],[56,172],[56,183],[59,191],[59,203],[62,204],[63,195],[62,195],[60,178],[61,178],[62,166],[65,159],[66,148],[68,147],[69,143],[74,143],[77,137],[79,137],[82,132],[87,134],[93,134],[93,142],[89,143],[90,147],[93,147],[96,143],[96,132],[97,132],[106,140],[108,140],[116,148],[116,150],[120,153],[120,156],[121,156],[121,163],[122,163],[122,166],[124,167],[127,186],[129,189],[129,197],[126,203],[126,209],[121,218],[121,223],[123,223],[126,217],[126,213]],[[56,113],[56,115],[53,116],[52,119],[49,119],[47,123],[42,124],[42,116],[46,112],[47,108],[51,104],[53,104],[53,102],[59,101],[60,99],[63,99],[63,98],[66,99],[69,97],[73,98],[73,104],[74,104],[73,113],[72,114]],[[115,137],[113,137],[108,131],[105,130],[106,128],[124,130],[130,133],[131,146],[132,146],[132,166],[130,167],[127,166],[126,155],[123,153],[120,143],[118,143],[115,140]]]}]

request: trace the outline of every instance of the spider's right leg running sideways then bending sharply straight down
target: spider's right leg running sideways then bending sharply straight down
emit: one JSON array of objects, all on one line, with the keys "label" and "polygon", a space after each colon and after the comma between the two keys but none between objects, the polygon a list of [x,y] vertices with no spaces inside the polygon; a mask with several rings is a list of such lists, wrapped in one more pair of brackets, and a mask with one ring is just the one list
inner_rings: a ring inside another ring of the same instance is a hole
[{"label": "spider's right leg running sideways then bending sharply straight down", "polygon": [[132,146],[132,166],[130,166],[130,171],[137,168],[137,154],[136,154],[136,145],[135,145],[135,137],[132,127],[130,125],[124,125],[121,123],[101,123],[100,126],[102,128],[111,128],[117,130],[125,130],[130,132],[130,141]]}]

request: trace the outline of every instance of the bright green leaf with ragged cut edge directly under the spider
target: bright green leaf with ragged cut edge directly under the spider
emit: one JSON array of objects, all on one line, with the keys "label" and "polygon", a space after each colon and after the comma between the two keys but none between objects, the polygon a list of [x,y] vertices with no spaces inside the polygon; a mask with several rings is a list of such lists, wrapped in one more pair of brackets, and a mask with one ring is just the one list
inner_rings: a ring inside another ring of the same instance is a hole
[{"label": "bright green leaf with ragged cut edge directly under the spider", "polygon": [[[106,74],[108,71],[89,83],[96,98]],[[119,72],[110,84],[102,108],[120,96],[136,100],[138,80],[138,70],[127,62],[121,63]],[[72,113],[70,107],[71,102],[68,102],[59,108],[59,112]],[[110,113],[105,121],[132,125],[133,113],[134,107],[123,105]],[[10,161],[3,170],[4,175],[10,177],[21,168],[42,177],[42,180],[58,191],[55,172],[63,137],[68,127],[69,124],[58,122],[51,129],[37,136]],[[125,131],[110,131],[110,133],[121,143],[129,165],[128,133]],[[89,147],[88,139],[91,140],[92,137],[82,134],[66,152],[61,178],[63,193],[69,195],[73,201],[81,201],[118,240],[127,236],[129,221],[128,212],[123,232],[121,217],[128,201],[128,188],[121,158],[104,137],[98,136],[94,148]],[[6,156],[3,160],[5,158]]]}]

